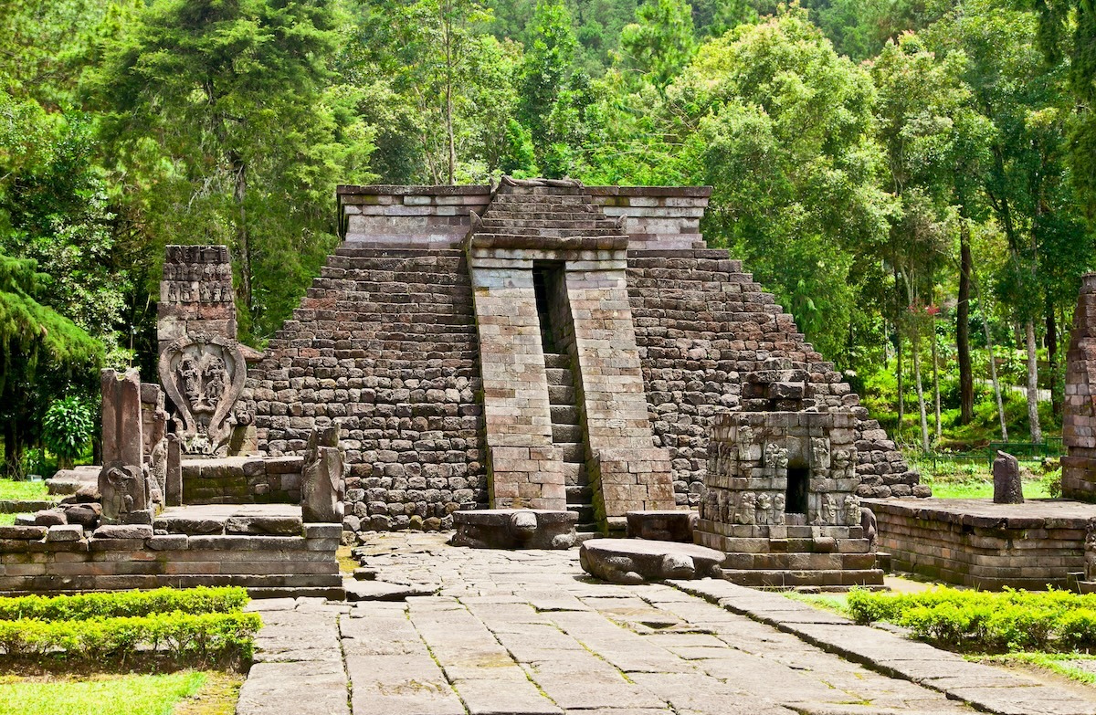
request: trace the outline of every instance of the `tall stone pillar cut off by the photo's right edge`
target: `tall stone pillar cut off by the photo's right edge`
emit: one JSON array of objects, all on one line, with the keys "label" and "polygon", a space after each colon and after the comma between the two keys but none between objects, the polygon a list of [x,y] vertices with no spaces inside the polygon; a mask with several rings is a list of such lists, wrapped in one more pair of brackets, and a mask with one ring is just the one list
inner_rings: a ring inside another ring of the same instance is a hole
[{"label": "tall stone pillar cut off by the photo's right edge", "polygon": [[1096,273],[1082,280],[1065,360],[1062,496],[1096,501]]}]

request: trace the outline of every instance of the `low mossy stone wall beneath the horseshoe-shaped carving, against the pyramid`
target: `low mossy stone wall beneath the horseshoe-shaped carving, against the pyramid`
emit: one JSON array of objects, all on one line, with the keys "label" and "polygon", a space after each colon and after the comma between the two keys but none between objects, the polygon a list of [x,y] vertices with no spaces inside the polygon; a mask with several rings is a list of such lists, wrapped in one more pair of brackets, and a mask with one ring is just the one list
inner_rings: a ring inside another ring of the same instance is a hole
[{"label": "low mossy stone wall beneath the horseshoe-shaped carving, against the pyramid", "polygon": [[302,465],[300,455],[186,459],[183,503],[300,503]]}]

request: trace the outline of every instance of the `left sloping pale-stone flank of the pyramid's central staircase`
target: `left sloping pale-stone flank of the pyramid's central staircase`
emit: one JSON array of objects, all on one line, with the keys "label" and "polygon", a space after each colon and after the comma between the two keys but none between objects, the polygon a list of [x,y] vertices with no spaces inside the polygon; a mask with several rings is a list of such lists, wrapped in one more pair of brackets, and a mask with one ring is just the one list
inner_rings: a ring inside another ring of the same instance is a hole
[{"label": "left sloping pale-stone flank of the pyramid's central staircase", "polygon": [[533,261],[490,253],[475,245],[469,250],[491,506],[564,509],[567,491],[551,441]]}]

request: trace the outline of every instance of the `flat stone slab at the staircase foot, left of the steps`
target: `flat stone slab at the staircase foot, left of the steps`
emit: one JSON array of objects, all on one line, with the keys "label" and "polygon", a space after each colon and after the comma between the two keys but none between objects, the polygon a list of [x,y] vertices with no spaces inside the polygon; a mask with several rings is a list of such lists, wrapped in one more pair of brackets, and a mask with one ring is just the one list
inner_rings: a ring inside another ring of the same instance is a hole
[{"label": "flat stone slab at the staircase foot, left of the steps", "polygon": [[571,548],[579,514],[549,509],[479,509],[453,512],[454,546]]}]

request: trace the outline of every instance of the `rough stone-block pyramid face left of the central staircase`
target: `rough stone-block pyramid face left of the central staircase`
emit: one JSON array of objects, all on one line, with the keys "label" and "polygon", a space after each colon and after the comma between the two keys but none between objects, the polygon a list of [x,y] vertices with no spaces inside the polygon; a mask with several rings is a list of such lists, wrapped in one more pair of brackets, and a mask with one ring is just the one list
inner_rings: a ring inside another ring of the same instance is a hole
[{"label": "rough stone-block pyramid face left of the central staircase", "polygon": [[488,502],[471,284],[457,250],[350,248],[329,257],[255,366],[271,455],[343,425],[347,524],[449,527]]}]

